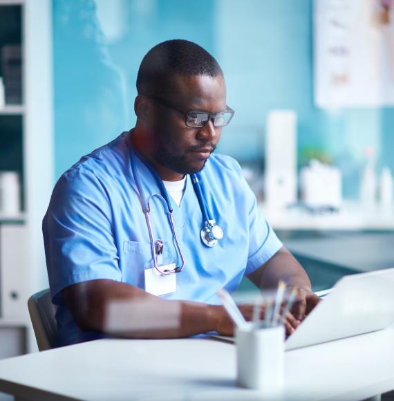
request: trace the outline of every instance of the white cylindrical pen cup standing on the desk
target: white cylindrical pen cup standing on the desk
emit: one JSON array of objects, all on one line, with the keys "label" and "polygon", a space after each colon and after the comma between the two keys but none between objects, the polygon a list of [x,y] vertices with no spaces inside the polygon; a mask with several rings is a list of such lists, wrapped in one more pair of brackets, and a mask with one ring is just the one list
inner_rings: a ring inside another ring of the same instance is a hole
[{"label": "white cylindrical pen cup standing on the desk", "polygon": [[283,389],[285,328],[283,324],[256,328],[248,322],[236,328],[237,384],[279,395]]}]

